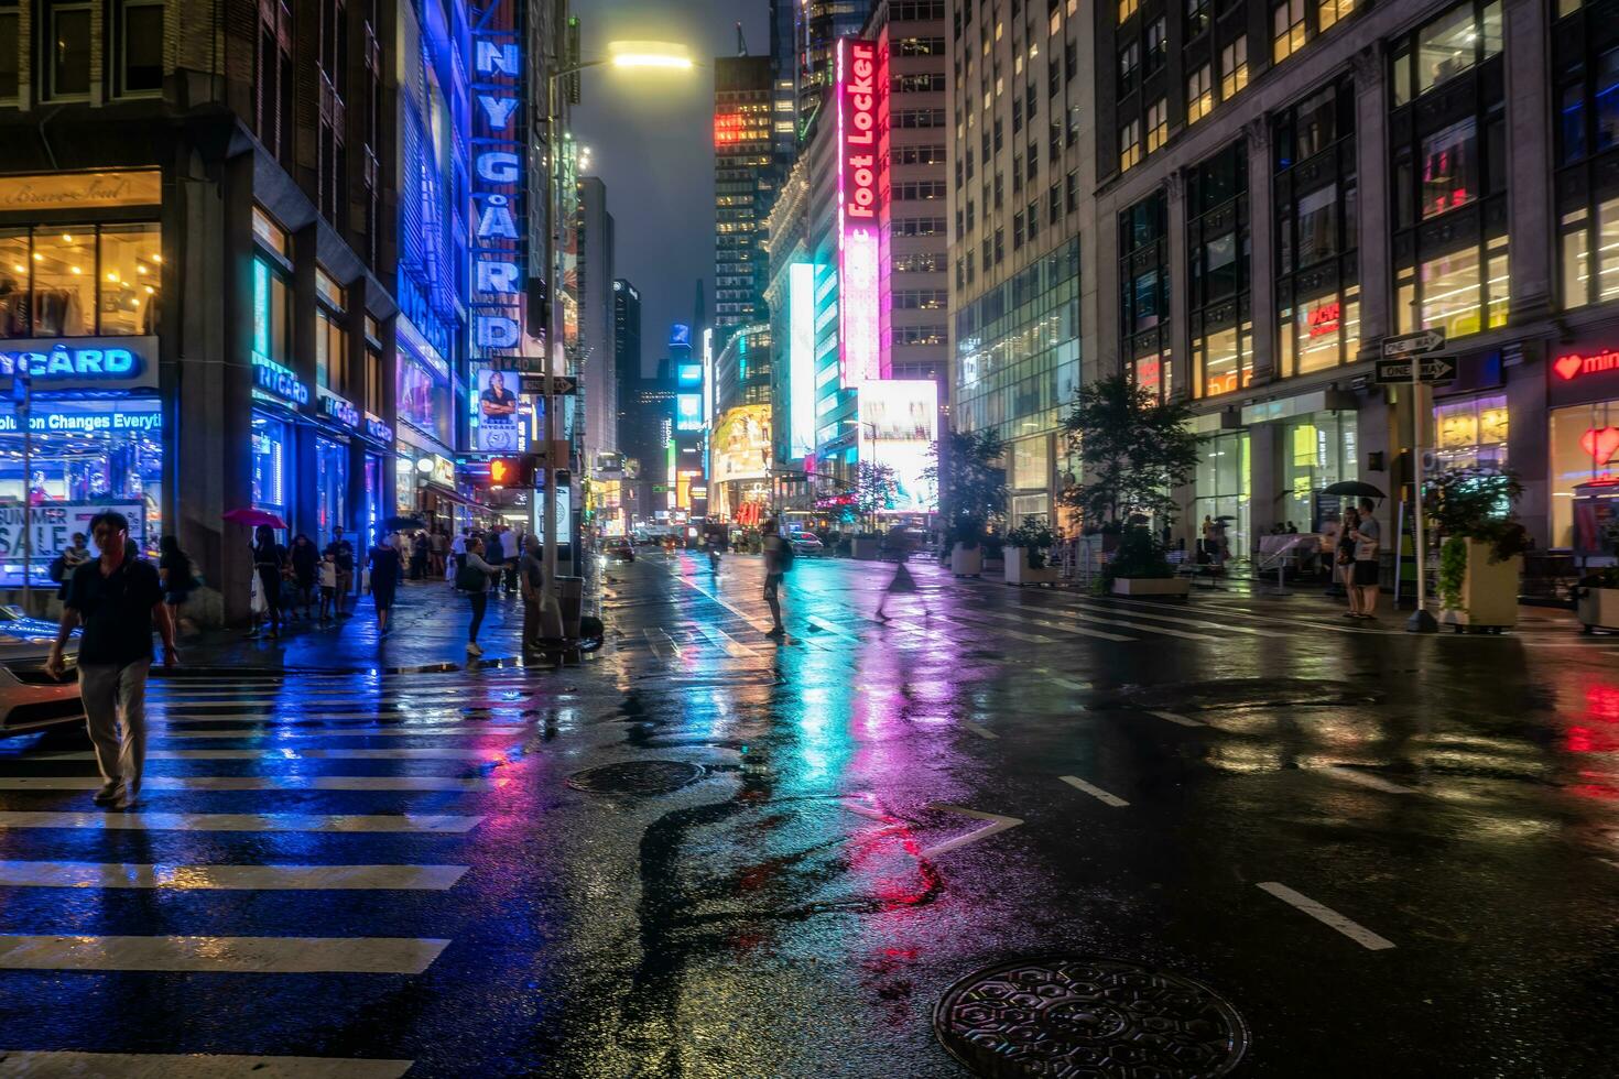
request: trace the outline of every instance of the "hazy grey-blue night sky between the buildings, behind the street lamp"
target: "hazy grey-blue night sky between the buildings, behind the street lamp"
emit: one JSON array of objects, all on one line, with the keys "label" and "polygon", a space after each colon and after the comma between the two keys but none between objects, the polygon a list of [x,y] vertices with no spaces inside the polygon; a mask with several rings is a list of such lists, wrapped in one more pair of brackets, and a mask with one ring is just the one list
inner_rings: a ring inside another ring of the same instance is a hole
[{"label": "hazy grey-blue night sky between the buildings, behind the street lamp", "polygon": [[691,322],[693,283],[714,307],[714,68],[748,50],[771,52],[769,0],[589,0],[575,5],[586,60],[614,39],[683,42],[704,66],[688,73],[584,73],[573,133],[607,184],[617,236],[615,275],[641,290],[643,367],[665,354],[669,324]]}]

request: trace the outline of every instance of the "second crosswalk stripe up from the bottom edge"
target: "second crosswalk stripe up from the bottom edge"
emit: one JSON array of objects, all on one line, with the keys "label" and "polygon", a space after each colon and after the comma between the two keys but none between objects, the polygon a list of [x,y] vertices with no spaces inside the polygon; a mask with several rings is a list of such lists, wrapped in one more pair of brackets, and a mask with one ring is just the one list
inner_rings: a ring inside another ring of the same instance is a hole
[{"label": "second crosswalk stripe up from the bottom edge", "polygon": [[421,974],[448,943],[448,940],[418,937],[26,937],[0,933],[0,969]]}]

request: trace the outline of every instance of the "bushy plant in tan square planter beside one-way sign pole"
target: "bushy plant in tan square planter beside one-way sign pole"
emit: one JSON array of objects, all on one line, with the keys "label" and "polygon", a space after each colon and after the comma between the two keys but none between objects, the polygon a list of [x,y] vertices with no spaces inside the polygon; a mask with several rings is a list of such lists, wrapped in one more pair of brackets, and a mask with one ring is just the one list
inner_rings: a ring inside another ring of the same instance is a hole
[{"label": "bushy plant in tan square planter beside one-way sign pole", "polygon": [[1511,469],[1465,468],[1434,476],[1423,510],[1439,542],[1439,623],[1455,633],[1517,624],[1528,532],[1514,506],[1523,484]]}]

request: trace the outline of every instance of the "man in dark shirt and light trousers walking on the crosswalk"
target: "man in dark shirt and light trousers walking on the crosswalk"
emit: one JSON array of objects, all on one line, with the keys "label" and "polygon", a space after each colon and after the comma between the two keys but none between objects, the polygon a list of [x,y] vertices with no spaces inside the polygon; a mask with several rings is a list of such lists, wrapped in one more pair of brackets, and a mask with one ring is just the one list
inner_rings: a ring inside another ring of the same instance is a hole
[{"label": "man in dark shirt and light trousers walking on the crosswalk", "polygon": [[164,637],[164,666],[178,663],[180,652],[157,569],[149,561],[128,556],[128,518],[97,513],[91,519],[91,537],[100,558],[73,571],[62,628],[45,670],[52,678],[62,678],[62,649],[73,628],[83,623],[79,694],[96,746],[96,767],[102,773],[96,804],[130,809],[141,794],[141,768],[146,764],[146,673],[152,666],[154,620]]}]

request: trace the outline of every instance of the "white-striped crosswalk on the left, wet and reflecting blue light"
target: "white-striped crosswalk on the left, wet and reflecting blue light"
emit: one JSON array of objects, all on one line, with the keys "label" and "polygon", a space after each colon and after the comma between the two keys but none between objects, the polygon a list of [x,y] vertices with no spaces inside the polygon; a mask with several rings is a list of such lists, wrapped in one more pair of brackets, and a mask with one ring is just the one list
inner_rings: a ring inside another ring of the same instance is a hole
[{"label": "white-striped crosswalk on the left, wet and reflecting blue light", "polygon": [[[316,995],[332,990],[332,975],[424,975],[455,948],[455,895],[478,872],[487,799],[521,762],[544,692],[554,689],[497,670],[154,678],[146,778],[128,812],[91,804],[100,778],[87,743],[66,733],[0,741],[0,1000],[76,1000],[97,985],[76,979],[108,975],[277,975],[308,979]],[[364,859],[335,861],[355,851]],[[321,933],[319,912],[345,893],[364,896],[369,932]],[[105,898],[66,899],[74,895]],[[118,895],[151,898],[131,920],[118,916],[131,909]],[[253,896],[287,896],[278,903],[316,914],[277,917],[280,908]],[[115,995],[164,992],[149,980],[112,985]],[[240,1053],[186,1053],[175,1043],[185,1024],[164,1032],[172,1051],[123,1051],[138,1045],[102,1043],[94,1011],[68,1018],[76,1045],[31,1043],[29,1024],[0,1024],[0,1076],[384,1079],[411,1069],[385,1053],[266,1055],[272,1000],[264,1014],[240,1016]]]}]

